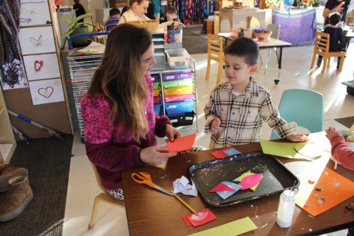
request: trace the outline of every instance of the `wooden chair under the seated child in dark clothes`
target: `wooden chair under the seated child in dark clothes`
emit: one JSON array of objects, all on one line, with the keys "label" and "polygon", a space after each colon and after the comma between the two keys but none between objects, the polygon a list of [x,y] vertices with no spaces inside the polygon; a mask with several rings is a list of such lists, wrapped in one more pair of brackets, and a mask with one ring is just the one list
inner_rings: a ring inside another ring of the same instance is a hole
[{"label": "wooden chair under the seated child in dark clothes", "polygon": [[341,63],[339,65],[339,72],[342,71],[343,63],[344,63],[344,52],[330,52],[329,51],[329,34],[323,32],[316,32],[316,36],[314,38],[314,50],[311,62],[311,69],[314,66],[314,62],[316,60],[316,54],[323,56],[323,68],[321,73],[324,72],[327,67],[329,67],[330,57],[341,57]]}]

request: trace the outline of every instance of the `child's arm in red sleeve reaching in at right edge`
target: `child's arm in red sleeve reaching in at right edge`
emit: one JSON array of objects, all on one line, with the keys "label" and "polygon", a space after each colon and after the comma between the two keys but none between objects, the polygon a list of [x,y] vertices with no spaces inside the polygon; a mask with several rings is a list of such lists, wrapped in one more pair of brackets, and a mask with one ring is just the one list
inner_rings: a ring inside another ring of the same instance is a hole
[{"label": "child's arm in red sleeve reaching in at right edge", "polygon": [[331,154],[342,166],[354,170],[354,151],[345,143],[344,137],[336,128],[326,129],[326,137],[332,148]]}]

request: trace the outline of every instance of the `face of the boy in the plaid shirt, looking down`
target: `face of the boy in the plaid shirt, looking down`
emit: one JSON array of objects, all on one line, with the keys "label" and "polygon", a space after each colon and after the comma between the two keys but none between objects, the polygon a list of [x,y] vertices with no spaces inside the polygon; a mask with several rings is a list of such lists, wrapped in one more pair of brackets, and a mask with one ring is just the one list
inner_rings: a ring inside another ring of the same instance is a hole
[{"label": "face of the boy in the plaid shirt, looking down", "polygon": [[244,57],[225,54],[225,75],[231,85],[248,84],[249,76],[256,71],[257,65],[249,66]]}]

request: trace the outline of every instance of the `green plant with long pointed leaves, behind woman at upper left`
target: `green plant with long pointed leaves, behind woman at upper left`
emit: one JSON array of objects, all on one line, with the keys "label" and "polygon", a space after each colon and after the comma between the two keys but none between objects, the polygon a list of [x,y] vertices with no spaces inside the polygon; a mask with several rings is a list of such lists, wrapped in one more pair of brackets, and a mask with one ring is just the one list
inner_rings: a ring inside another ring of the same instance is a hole
[{"label": "green plant with long pointed leaves, behind woman at upper left", "polygon": [[[93,27],[93,19],[92,19],[92,14],[91,13],[83,14],[83,15],[80,15],[80,16],[78,16],[76,18],[74,18],[74,16],[75,16],[75,12],[73,12],[71,18],[69,18],[67,16],[58,16],[61,19],[64,19],[65,21],[67,21],[69,23],[68,28],[65,30],[64,35],[62,37],[62,44],[60,46],[60,50],[61,51],[65,47],[65,43],[66,43],[66,40],[68,39],[68,36],[71,36],[72,34],[75,34],[75,31],[80,31],[81,27],[84,27],[84,26],[92,26]],[[86,23],[86,22],[78,23],[78,21],[80,21],[81,19],[83,19],[85,17],[90,17],[92,24]],[[80,33],[80,32],[77,32],[77,33]]]}]

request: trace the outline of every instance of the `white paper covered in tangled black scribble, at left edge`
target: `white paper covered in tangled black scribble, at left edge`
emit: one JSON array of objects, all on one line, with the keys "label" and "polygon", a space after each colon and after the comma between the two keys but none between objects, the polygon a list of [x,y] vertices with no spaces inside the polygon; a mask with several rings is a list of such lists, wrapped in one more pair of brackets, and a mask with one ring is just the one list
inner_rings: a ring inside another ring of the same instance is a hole
[{"label": "white paper covered in tangled black scribble, at left edge", "polygon": [[12,63],[6,63],[0,67],[0,78],[3,90],[27,88],[27,78],[23,63],[15,59]]}]

